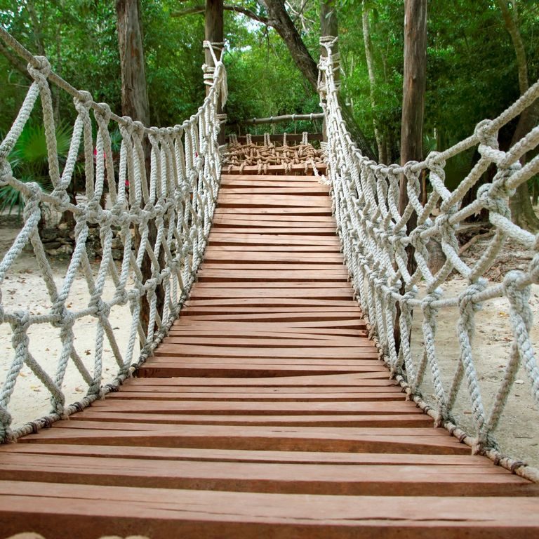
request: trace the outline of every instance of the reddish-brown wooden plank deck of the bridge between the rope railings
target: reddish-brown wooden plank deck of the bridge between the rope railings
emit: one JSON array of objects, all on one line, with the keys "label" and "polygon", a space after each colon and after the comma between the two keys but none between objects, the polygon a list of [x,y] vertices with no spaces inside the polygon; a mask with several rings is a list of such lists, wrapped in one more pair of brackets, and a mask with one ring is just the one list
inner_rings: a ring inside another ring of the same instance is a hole
[{"label": "reddish-brown wooden plank deck of the bridge between the rope railings", "polygon": [[538,487],[388,379],[328,189],[223,175],[187,308],[106,401],[0,448],[1,537],[529,538]]}]

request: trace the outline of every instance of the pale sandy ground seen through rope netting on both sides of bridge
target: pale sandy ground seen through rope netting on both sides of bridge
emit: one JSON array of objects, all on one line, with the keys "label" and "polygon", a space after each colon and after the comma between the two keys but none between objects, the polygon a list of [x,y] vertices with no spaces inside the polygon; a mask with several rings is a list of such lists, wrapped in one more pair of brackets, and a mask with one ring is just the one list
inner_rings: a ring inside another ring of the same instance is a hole
[{"label": "pale sandy ground seen through rope netting on both sides of bridge", "polygon": [[[18,227],[13,219],[0,216],[0,254],[3,255],[6,249],[11,246]],[[470,248],[467,256],[473,258],[484,249],[485,242],[481,241]],[[518,248],[512,245],[507,246],[500,256],[500,263],[493,269],[491,277],[497,279],[502,271],[514,268],[524,268],[529,260],[526,253],[521,253]],[[509,261],[509,262],[508,262]],[[65,275],[68,260],[55,260],[53,269],[55,280],[61,283]],[[98,262],[95,262],[97,271]],[[444,284],[444,296],[453,297],[465,288],[463,279],[453,277]],[[107,283],[106,295],[112,294],[114,287],[112,281]],[[33,253],[22,253],[20,258],[10,270],[4,285],[1,287],[4,305],[6,309],[20,307],[29,309],[34,313],[46,313],[51,307],[51,300],[44,286]],[[86,281],[79,277],[76,279],[69,297],[69,304],[74,310],[79,310],[88,304],[89,294]],[[533,287],[531,297],[531,308],[534,312],[535,320],[539,316],[539,286]],[[112,312],[112,326],[114,327],[117,341],[122,353],[125,353],[126,342],[128,340],[128,325],[131,314],[127,307],[117,309]],[[474,359],[481,386],[481,394],[485,407],[488,409],[493,399],[493,394],[498,389],[500,380],[503,377],[505,364],[509,358],[511,331],[509,323],[509,305],[507,300],[495,299],[487,302],[484,309],[477,314],[477,335],[473,343]],[[446,384],[446,389],[451,385],[451,378],[458,364],[459,347],[456,338],[456,324],[458,321],[457,308],[449,309],[439,317],[436,346],[442,377]],[[76,350],[83,359],[88,359],[88,368],[91,369],[93,350],[95,346],[95,319],[88,317],[77,322],[75,327]],[[30,335],[30,350],[46,371],[54,375],[58,357],[60,354],[60,339],[58,329],[52,328],[48,324],[34,326]],[[420,359],[423,342],[420,331],[420,319],[415,319],[413,329],[413,355]],[[532,340],[535,350],[539,345],[539,324],[535,323],[532,331]],[[6,373],[13,360],[13,347],[11,346],[11,328],[7,324],[0,325],[0,384],[4,384]],[[138,350],[133,357],[138,357]],[[105,361],[103,368],[103,381],[106,382],[114,378],[117,372],[110,346],[105,342]],[[432,397],[432,390],[429,390],[430,380],[427,377],[425,383],[425,399]],[[63,386],[67,402],[79,400],[86,393],[86,384],[81,378],[73,364],[69,364],[65,383]],[[32,398],[28,396],[32,395]],[[27,366],[22,369],[18,382],[15,385],[15,392],[9,404],[9,409],[14,417],[14,423],[20,425],[27,420],[45,415],[50,408],[48,392],[41,385]],[[509,403],[505,409],[505,415],[500,422],[497,437],[502,451],[522,460],[526,460],[531,465],[539,467],[539,408],[534,404],[531,397],[531,385],[526,373],[521,371],[517,377],[510,395]],[[471,405],[467,397],[467,391],[463,387],[458,398],[458,405],[455,408],[455,415],[461,425],[471,425]]]}]

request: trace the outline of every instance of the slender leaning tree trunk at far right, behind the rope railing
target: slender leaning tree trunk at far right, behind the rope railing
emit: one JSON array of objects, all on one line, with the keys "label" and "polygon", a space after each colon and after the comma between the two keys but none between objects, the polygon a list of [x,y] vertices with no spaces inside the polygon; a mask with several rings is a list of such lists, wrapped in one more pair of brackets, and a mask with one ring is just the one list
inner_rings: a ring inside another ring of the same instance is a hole
[{"label": "slender leaning tree trunk at far right, behind the rope railing", "polygon": [[[526,51],[524,49],[524,43],[519,31],[517,4],[511,2],[511,8],[507,0],[498,0],[498,5],[502,11],[503,20],[505,22],[505,28],[511,36],[511,41],[514,47],[514,55],[517,59],[517,69],[519,72],[519,89],[523,94],[528,90],[528,67],[526,64]],[[531,107],[528,107],[519,117],[519,123],[514,131],[511,145],[518,142],[528,131],[530,131],[535,124],[537,124],[539,118],[539,105],[534,103]],[[522,156],[520,160],[521,164],[526,163],[526,156]],[[519,225],[530,232],[535,232],[539,229],[539,219],[533,211],[533,206],[530,201],[530,192],[526,182],[517,187],[517,192],[511,197],[509,201],[511,209],[511,218],[515,225]]]}]

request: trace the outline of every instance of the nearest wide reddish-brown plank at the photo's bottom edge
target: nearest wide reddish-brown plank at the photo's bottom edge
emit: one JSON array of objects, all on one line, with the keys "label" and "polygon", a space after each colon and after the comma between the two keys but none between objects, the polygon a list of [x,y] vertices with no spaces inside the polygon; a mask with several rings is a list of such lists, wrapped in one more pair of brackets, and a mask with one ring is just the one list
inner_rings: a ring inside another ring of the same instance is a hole
[{"label": "nearest wide reddish-brown plank at the photo's bottom edge", "polygon": [[[425,496],[418,503],[404,496],[310,497],[73,484],[58,485],[51,497],[46,484],[33,481],[3,481],[0,488],[4,533],[25,529],[32,521],[34,530],[45,535],[58,528],[57,539],[95,539],[95,530],[126,536],[133,529],[183,538],[527,539],[539,522],[537,498],[519,498],[516,515],[512,496]],[[71,511],[67,500],[78,500]],[[14,511],[18,517],[6,519],[6,512]]]}]

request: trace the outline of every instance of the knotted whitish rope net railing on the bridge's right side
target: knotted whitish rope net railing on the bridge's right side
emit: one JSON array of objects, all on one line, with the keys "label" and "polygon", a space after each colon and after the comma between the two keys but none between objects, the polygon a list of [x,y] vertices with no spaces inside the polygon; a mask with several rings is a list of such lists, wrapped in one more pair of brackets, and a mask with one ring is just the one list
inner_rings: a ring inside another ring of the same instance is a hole
[{"label": "knotted whitish rope net railing on the bridge's right side", "polygon": [[[539,173],[539,157],[533,157],[524,166],[519,162],[526,152],[538,147],[539,126],[507,152],[499,149],[497,141],[498,130],[539,97],[539,81],[499,117],[481,121],[466,140],[444,152],[431,152],[424,161],[388,166],[364,157],[346,129],[337,99],[333,44],[335,38],[321,39],[327,55],[320,58],[319,64],[319,94],[328,138],[328,178],[342,250],[371,335],[392,376],[399,380],[411,399],[430,413],[435,425],[444,425],[470,444],[474,452],[485,453],[538,481],[537,470],[500,453],[493,433],[520,366],[524,367],[533,399],[539,404],[539,368],[529,334],[533,323],[529,306],[531,285],[539,283],[539,235],[514,225],[508,206],[514,189]],[[451,191],[444,185],[446,160],[472,147],[477,148],[479,161]],[[495,167],[492,182],[480,185],[477,199],[463,206],[467,192],[491,166]],[[425,206],[420,201],[422,173],[428,175],[432,185]],[[409,199],[402,213],[399,212],[401,176],[406,181]],[[439,212],[436,217],[434,209]],[[481,258],[469,264],[459,255],[458,227],[482,209],[488,210],[493,237]],[[414,213],[417,225],[407,230]],[[431,239],[439,242],[445,256],[444,264],[435,272],[431,272],[428,263]],[[489,282],[485,274],[507,240],[528,250],[531,262],[527,270],[507,272],[500,284]],[[408,246],[414,248],[417,269],[413,273],[408,272],[411,267]],[[467,286],[462,293],[451,296],[443,286],[453,272],[465,278]],[[472,341],[475,315],[493,298],[505,298],[510,305],[512,344],[502,380],[487,407],[481,395]],[[455,346],[460,347],[460,360],[454,367],[441,361],[443,352],[437,350],[435,344],[437,321],[444,317],[448,307],[459,310]],[[424,342],[424,350],[417,360],[411,352],[412,314],[416,322],[420,316],[420,336]],[[399,331],[395,331],[395,326]],[[396,334],[400,335],[400,345]],[[460,390],[470,399],[472,436],[455,420],[455,403]],[[434,393],[432,399],[428,397],[430,392]]]}]

